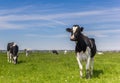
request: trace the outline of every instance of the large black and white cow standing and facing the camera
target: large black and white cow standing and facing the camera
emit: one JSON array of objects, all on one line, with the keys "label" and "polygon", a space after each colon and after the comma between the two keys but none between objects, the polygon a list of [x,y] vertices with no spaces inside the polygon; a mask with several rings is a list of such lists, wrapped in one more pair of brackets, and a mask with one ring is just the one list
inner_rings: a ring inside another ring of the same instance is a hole
[{"label": "large black and white cow standing and facing the camera", "polygon": [[96,45],[94,38],[88,38],[82,31],[83,27],[73,25],[72,28],[67,28],[66,31],[71,33],[70,40],[76,42],[75,52],[78,65],[80,68],[80,76],[83,76],[83,65],[81,61],[86,61],[86,78],[93,75],[94,56],[96,54]]}]

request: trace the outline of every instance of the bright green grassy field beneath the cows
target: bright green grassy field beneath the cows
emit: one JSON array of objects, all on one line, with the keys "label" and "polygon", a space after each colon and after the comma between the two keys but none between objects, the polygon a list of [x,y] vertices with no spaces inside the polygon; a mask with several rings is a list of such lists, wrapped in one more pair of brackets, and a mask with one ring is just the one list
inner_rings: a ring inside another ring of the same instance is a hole
[{"label": "bright green grassy field beneath the cows", "polygon": [[7,62],[0,53],[0,83],[120,83],[120,53],[104,53],[95,56],[92,79],[81,79],[73,52],[64,55],[32,53],[19,54],[19,63]]}]

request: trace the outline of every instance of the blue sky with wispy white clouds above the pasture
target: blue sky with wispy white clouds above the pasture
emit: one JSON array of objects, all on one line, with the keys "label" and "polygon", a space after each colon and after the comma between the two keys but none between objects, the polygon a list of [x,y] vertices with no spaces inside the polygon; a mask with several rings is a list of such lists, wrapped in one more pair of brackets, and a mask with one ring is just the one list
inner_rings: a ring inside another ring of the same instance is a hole
[{"label": "blue sky with wispy white clouds above the pasture", "polygon": [[0,0],[0,49],[74,49],[66,28],[79,24],[98,50],[120,50],[120,0]]}]

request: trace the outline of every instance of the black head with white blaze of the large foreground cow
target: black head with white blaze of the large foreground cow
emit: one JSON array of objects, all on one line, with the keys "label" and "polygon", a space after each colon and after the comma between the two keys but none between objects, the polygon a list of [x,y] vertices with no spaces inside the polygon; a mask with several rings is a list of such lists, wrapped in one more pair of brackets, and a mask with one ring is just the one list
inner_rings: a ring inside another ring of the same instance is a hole
[{"label": "black head with white blaze of the large foreground cow", "polygon": [[70,40],[77,41],[79,38],[79,35],[83,31],[83,27],[80,27],[79,25],[73,25],[72,28],[67,28],[66,31],[71,33]]}]

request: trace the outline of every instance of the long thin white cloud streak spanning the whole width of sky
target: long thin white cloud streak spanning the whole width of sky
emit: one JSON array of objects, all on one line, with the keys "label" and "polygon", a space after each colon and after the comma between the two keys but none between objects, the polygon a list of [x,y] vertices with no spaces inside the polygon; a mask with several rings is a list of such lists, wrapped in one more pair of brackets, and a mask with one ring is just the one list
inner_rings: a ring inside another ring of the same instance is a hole
[{"label": "long thin white cloud streak spanning the whole width of sky", "polygon": [[[22,9],[22,8],[21,8]],[[17,9],[17,11],[21,10]],[[24,9],[23,9],[24,10]],[[22,11],[23,11],[22,10]],[[93,10],[93,11],[84,11],[84,12],[70,12],[70,13],[61,13],[61,14],[50,14],[50,15],[39,15],[39,14],[29,14],[29,15],[7,15],[2,16],[1,19],[3,21],[25,21],[25,20],[51,20],[51,19],[59,19],[59,18],[71,18],[76,16],[93,16],[95,15],[119,15],[120,8],[106,9],[106,10]],[[11,12],[14,10],[11,10]],[[16,12],[16,11],[15,11]],[[9,13],[8,13],[9,14]],[[24,11],[23,11],[24,14]],[[119,15],[120,16],[120,15]],[[14,18],[14,19],[13,19]]]}]

